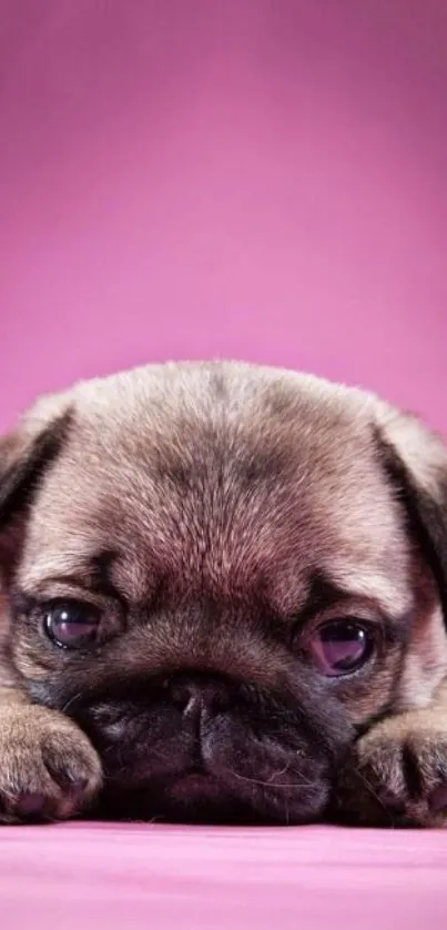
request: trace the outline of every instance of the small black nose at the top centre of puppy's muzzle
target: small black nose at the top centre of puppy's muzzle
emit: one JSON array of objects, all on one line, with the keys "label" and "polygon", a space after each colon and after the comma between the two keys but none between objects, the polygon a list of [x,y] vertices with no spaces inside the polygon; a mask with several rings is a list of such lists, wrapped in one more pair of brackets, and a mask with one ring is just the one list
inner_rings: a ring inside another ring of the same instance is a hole
[{"label": "small black nose at the top centre of puppy's muzzle", "polygon": [[230,685],[220,678],[176,675],[167,687],[172,702],[184,715],[215,716],[231,704]]}]

